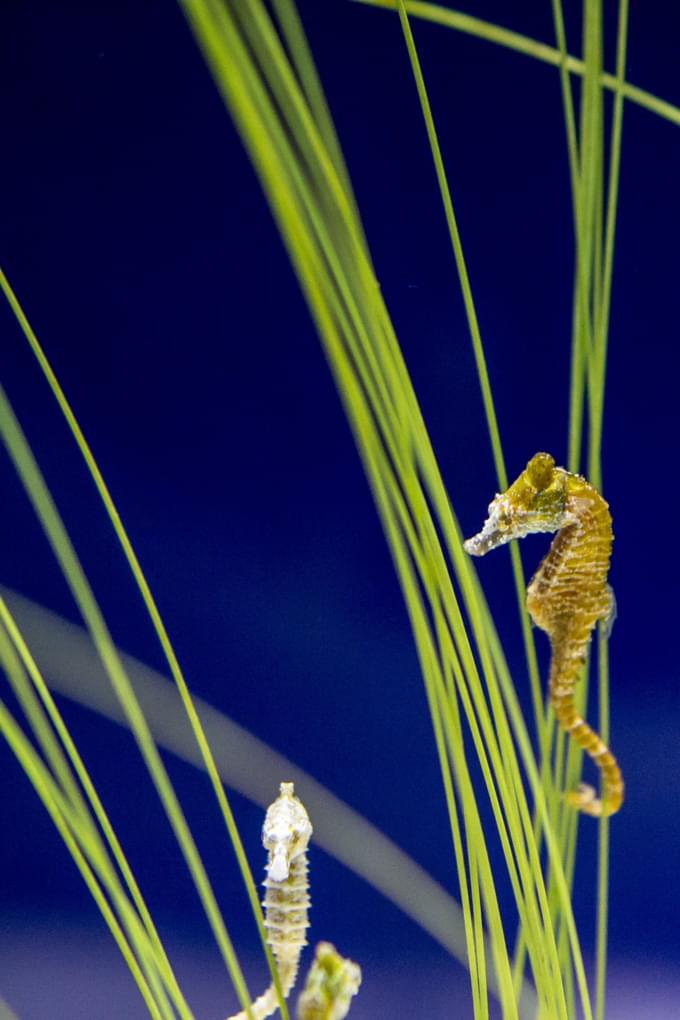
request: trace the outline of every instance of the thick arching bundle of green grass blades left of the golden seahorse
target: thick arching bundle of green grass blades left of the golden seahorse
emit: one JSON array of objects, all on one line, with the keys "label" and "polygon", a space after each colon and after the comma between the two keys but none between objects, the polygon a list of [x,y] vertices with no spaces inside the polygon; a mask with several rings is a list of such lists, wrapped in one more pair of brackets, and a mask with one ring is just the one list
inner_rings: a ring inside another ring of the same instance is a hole
[{"label": "thick arching bundle of green grass blades left of the golden seahorse", "polygon": [[[438,547],[436,528],[430,519],[420,477],[427,474],[430,479],[436,478],[433,484],[436,486],[434,495],[439,504],[438,511],[441,512],[443,504],[447,508],[444,514],[450,516],[446,493],[436,467],[430,460],[429,443],[396,338],[379,298],[370,258],[362,247],[361,230],[352,219],[352,203],[334,173],[332,160],[322,151],[313,118],[309,111],[300,107],[300,94],[290,100],[286,97],[285,90],[294,89],[295,83],[291,83],[290,75],[285,72],[281,55],[276,50],[268,22],[259,5],[249,8],[247,15],[241,10],[240,13],[244,20],[243,31],[248,34],[249,52],[257,52],[260,48],[262,53],[266,53],[266,64],[262,61],[261,66],[262,76],[267,81],[266,91],[252,73],[244,60],[243,52],[238,48],[236,24],[229,20],[228,8],[218,8],[213,4],[193,4],[188,7],[188,13],[263,182],[324,341],[383,519],[393,556],[399,566],[426,688],[429,686],[431,692],[429,700],[434,711],[437,707],[441,711],[441,706],[447,704],[444,695],[435,698],[434,694],[446,691],[441,666],[448,661],[447,649],[453,648],[449,644],[449,634],[464,655],[465,672],[469,673],[469,677],[465,681],[457,677],[457,683],[460,684],[458,694],[463,699],[466,722],[475,734],[477,752],[481,752],[482,772],[505,847],[518,906],[520,910],[527,912],[533,967],[541,982],[543,1000],[553,1004],[556,1015],[565,1015],[564,997],[559,987],[557,949],[552,933],[545,929],[547,904],[542,878],[536,868],[537,856],[535,850],[533,857],[531,856],[525,843],[527,833],[529,836],[531,834],[531,820],[524,802],[524,792],[517,766],[508,764],[507,757],[500,752],[495,743],[494,731],[506,733],[508,725],[502,717],[502,705],[498,698],[492,700],[493,715],[489,715],[463,630],[462,617],[455,606],[444,558]],[[229,46],[233,49],[228,50]],[[276,112],[269,101],[271,94],[276,95]],[[283,97],[286,97],[285,101],[282,101]],[[284,131],[276,122],[278,111],[292,111]],[[290,135],[295,137],[297,150],[305,156],[307,175],[304,178],[300,176],[299,168],[292,168],[289,163],[284,143]],[[308,169],[310,166],[312,168]],[[319,175],[325,182],[323,189],[318,187]],[[331,219],[328,219],[329,212],[332,213]],[[322,227],[320,224],[323,223],[327,223],[327,226]],[[331,256],[328,242],[336,253],[335,259]],[[347,264],[348,258],[351,259],[350,264]],[[351,302],[348,295],[353,295]],[[357,316],[365,326],[358,327]],[[347,336],[348,326],[352,336]],[[357,352],[360,352],[359,357]],[[365,369],[369,362],[373,372],[382,373],[381,387],[377,385],[379,376],[376,376],[375,387],[366,387]],[[385,395],[393,403],[391,408],[376,404],[372,398],[375,392]],[[430,492],[429,498],[432,499],[432,496]],[[447,523],[446,526],[451,525]],[[469,564],[460,549],[459,537],[454,542],[454,548],[456,570],[467,575]],[[420,585],[425,601],[421,601],[418,594]],[[441,612],[444,616],[438,615]],[[438,620],[436,639],[430,633],[430,613],[434,613]],[[444,646],[440,644],[442,635],[446,636]],[[456,653],[457,656],[459,654]],[[471,697],[466,693],[467,683],[470,683]],[[450,715],[442,716],[441,733],[448,754],[455,762],[452,779],[461,797],[466,831],[475,833],[475,853],[481,869],[480,888],[487,920],[491,923],[493,894],[492,883],[488,884],[491,876],[483,871],[485,850],[480,830],[475,827],[478,825],[478,820],[475,819],[476,805],[472,798],[466,799],[465,786],[459,785],[468,782],[465,779],[467,767],[460,757],[460,741],[456,737],[451,720]],[[436,726],[437,724],[434,726],[435,732]],[[502,740],[506,741],[504,751],[514,759],[512,744],[505,736]],[[490,751],[488,761],[485,748]],[[446,775],[443,763],[442,773]],[[522,810],[518,814],[518,805],[522,804]],[[450,811],[450,814],[452,826],[455,826],[453,812]],[[467,882],[469,874],[472,871],[465,870],[461,880]],[[474,930],[474,923],[475,919],[471,917],[468,930]],[[494,942],[499,947],[496,967],[501,967],[503,985],[509,989],[510,1009],[510,999],[513,996],[512,975],[502,929],[498,934],[499,938]],[[546,945],[552,947],[550,964],[544,962]],[[575,952],[578,955],[577,944]],[[475,983],[478,989],[482,987],[480,982],[478,974]],[[587,1000],[587,993],[585,998]],[[481,1008],[479,993],[477,1003]],[[587,1002],[584,1009],[588,1013]]]}]

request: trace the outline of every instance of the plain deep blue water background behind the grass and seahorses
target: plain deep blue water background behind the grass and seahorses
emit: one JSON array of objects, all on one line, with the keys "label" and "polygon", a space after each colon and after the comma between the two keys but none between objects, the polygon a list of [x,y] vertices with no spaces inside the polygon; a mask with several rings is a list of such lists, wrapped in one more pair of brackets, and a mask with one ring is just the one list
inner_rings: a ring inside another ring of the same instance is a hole
[{"label": "plain deep blue water background behind the grass and seahorses", "polygon": [[[300,8],[380,285],[470,533],[495,482],[399,24],[345,2]],[[504,4],[469,9],[508,24]],[[509,27],[552,42],[547,4],[512,16]],[[110,484],[193,690],[455,890],[425,700],[384,540],[295,277],[178,7],[10,4],[1,24],[2,265]],[[675,28],[664,4],[635,5],[627,74],[680,103]],[[514,474],[538,449],[566,456],[573,240],[558,74],[451,32],[415,30]],[[578,51],[577,18],[569,31]],[[668,986],[680,950],[679,167],[678,129],[628,105],[604,438],[619,605],[612,732],[627,780],[612,824],[612,996],[616,1004],[627,981],[647,981],[636,1015],[649,1017],[655,981],[630,975],[646,967],[640,975],[661,973]],[[113,634],[159,666],[110,527],[4,307],[0,330],[2,381]],[[0,476],[1,579],[72,615],[6,458]],[[543,551],[540,540],[527,543],[529,570]],[[480,572],[528,707],[507,557]],[[544,664],[540,638],[539,651]],[[205,926],[130,738],[64,710],[163,930],[185,954],[198,1015],[226,1012],[227,982],[213,957],[204,962]],[[66,852],[11,756],[0,757],[0,993],[27,1017],[143,1016]],[[239,944],[255,952],[232,906],[243,892],[205,781],[169,766]],[[234,805],[258,869],[261,812],[238,797]],[[588,948],[594,826],[582,831],[576,906]],[[460,968],[377,895],[320,853],[313,867],[313,937],[335,940],[366,969],[358,1017],[383,1015],[380,997],[396,989],[407,1015],[444,1015],[443,991],[465,994]],[[389,968],[407,958],[419,976],[402,988]]]}]

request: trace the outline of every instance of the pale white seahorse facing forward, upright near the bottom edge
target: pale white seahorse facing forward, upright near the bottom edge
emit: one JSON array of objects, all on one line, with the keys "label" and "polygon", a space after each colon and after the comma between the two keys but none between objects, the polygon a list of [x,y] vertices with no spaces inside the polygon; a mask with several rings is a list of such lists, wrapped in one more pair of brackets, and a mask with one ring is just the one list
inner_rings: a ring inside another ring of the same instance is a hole
[{"label": "pale white seahorse facing forward, upright near the bottom edge", "polygon": [[[262,906],[267,941],[276,962],[283,997],[287,998],[298,976],[298,965],[309,921],[309,879],[307,846],[312,823],[302,801],[294,794],[292,782],[282,782],[280,793],[270,805],[262,826],[262,843],[268,851],[266,889]],[[264,1020],[277,1009],[273,984],[253,1003],[254,1020]],[[246,1012],[229,1020],[246,1020]]]}]

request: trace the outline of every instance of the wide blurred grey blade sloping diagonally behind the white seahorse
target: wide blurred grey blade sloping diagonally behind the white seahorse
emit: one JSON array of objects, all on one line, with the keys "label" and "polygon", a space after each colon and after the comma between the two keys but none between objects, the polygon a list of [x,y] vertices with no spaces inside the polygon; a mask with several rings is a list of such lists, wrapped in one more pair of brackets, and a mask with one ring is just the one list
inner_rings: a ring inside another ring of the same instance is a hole
[{"label": "wide blurred grey blade sloping diagonally behind the white seahorse", "polygon": [[[46,682],[61,695],[126,726],[124,713],[87,631],[0,586],[12,617],[25,634]],[[168,680],[119,652],[136,697],[158,745],[197,768],[205,768],[177,692]],[[266,809],[281,775],[305,790],[314,818],[314,844],[365,879],[467,966],[461,908],[441,885],[375,826],[339,801],[287,758],[200,698],[194,699],[215,762],[225,783]],[[488,951],[488,947],[486,947]],[[490,974],[491,990],[498,986]],[[534,1012],[533,993],[522,989],[522,1008]]]}]

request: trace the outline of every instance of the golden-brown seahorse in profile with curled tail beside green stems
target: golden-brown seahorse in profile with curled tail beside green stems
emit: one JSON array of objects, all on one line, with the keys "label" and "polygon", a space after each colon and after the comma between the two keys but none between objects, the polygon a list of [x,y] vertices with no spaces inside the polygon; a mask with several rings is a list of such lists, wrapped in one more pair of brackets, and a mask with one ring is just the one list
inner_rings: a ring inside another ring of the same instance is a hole
[{"label": "golden-brown seahorse in profile with curled tail beside green stems", "polygon": [[562,728],[592,758],[603,781],[601,801],[585,783],[566,799],[585,814],[612,815],[623,803],[621,770],[574,705],[574,686],[590,632],[598,620],[611,628],[616,614],[614,593],[607,583],[612,518],[599,493],[581,475],[556,467],[547,453],[532,457],[510,489],[495,497],[483,528],[464,548],[472,556],[484,556],[534,531],[558,531],[529,583],[526,600],[531,619],[551,640],[551,704]]}]

